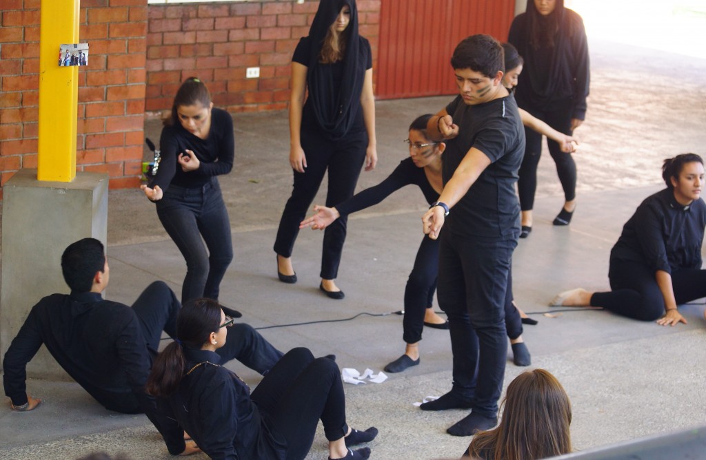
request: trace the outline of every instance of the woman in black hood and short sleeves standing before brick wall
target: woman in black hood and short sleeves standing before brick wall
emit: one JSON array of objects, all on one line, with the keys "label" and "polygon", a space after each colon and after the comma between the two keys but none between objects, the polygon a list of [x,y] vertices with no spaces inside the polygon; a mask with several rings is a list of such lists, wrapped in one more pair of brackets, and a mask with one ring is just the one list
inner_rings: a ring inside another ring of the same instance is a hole
[{"label": "woman in black hood and short sleeves standing before brick wall", "polygon": [[[358,34],[355,1],[321,0],[309,36],[299,41],[292,58],[289,164],[294,187],[274,247],[282,282],[297,282],[292,250],[299,222],[327,169],[326,205],[334,206],[353,195],[363,163],[366,171],[376,166],[372,67],[370,44]],[[319,289],[330,298],[344,296],[335,278],[346,223],[345,217],[337,219],[323,237]]]}]

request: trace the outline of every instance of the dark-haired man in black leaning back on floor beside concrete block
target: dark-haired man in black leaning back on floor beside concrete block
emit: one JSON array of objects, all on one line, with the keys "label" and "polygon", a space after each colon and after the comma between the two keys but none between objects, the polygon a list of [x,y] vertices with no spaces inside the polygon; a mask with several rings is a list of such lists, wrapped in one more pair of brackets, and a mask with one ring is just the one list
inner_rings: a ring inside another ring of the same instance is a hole
[{"label": "dark-haired man in black leaning back on floor beside concrete block", "polygon": [[[52,294],[37,303],[13,339],[3,362],[5,394],[14,411],[31,411],[40,399],[26,392],[27,363],[44,344],[49,353],[105,408],[145,413],[162,430],[166,414],[155,407],[144,385],[157,355],[162,330],[177,337],[181,303],[164,282],[153,282],[132,308],[104,300],[109,267],[103,244],[84,238],[64,250],[61,270],[71,294]],[[225,313],[240,316],[235,310]],[[255,329],[242,323],[227,329],[221,363],[236,358],[266,373],[282,357]],[[184,444],[167,446],[172,454],[196,452]],[[190,450],[191,449],[191,450]]]}]

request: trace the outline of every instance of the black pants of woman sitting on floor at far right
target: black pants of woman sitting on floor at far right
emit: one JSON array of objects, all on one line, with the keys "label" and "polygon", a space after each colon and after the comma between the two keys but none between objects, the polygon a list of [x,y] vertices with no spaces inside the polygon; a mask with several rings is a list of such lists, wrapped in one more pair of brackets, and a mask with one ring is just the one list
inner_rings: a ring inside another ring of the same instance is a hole
[{"label": "black pants of woman sitting on floor at far right", "polygon": [[[611,260],[610,292],[591,296],[591,305],[635,320],[654,321],[664,315],[664,296],[654,271],[638,262]],[[677,305],[706,297],[706,270],[682,269],[671,274]]]}]

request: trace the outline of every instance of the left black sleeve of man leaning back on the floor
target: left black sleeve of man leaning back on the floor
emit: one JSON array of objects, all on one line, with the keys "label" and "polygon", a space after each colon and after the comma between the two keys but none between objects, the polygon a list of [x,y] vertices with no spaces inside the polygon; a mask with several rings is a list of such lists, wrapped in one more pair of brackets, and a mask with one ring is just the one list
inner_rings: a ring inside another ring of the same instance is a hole
[{"label": "left black sleeve of man leaning back on the floor", "polygon": [[44,343],[35,311],[38,305],[32,307],[25,324],[6,351],[3,361],[5,395],[15,406],[22,406],[27,402],[27,363],[34,358]]}]

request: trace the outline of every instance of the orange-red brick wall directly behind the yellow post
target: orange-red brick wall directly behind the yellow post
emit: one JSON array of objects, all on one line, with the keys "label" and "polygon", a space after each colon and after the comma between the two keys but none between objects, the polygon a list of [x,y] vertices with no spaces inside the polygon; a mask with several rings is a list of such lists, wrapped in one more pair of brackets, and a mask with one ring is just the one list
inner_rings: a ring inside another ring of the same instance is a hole
[{"label": "orange-red brick wall directly behind the yellow post", "polygon": [[[0,22],[0,182],[37,167],[40,0],[3,0]],[[78,171],[103,171],[112,188],[137,186],[143,157],[147,0],[82,0]],[[57,49],[58,54],[58,49]]]}]

